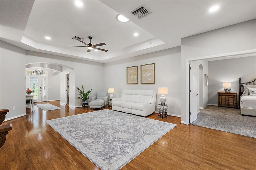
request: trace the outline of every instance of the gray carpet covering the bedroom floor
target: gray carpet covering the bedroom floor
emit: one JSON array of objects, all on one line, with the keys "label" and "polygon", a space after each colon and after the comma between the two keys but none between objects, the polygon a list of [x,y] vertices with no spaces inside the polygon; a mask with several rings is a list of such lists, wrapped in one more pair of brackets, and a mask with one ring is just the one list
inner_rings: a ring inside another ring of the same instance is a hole
[{"label": "gray carpet covering the bedroom floor", "polygon": [[192,124],[256,138],[256,117],[242,116],[240,109],[207,106]]}]

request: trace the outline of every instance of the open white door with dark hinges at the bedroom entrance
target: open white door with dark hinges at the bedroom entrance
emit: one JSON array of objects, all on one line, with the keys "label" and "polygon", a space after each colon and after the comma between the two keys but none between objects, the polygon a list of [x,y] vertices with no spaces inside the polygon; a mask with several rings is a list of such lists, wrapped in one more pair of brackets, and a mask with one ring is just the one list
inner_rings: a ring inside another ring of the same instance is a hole
[{"label": "open white door with dark hinges at the bedroom entrance", "polygon": [[197,74],[196,64],[191,62],[189,70],[189,89],[190,89],[190,107],[189,107],[189,123],[194,122],[197,119]]}]

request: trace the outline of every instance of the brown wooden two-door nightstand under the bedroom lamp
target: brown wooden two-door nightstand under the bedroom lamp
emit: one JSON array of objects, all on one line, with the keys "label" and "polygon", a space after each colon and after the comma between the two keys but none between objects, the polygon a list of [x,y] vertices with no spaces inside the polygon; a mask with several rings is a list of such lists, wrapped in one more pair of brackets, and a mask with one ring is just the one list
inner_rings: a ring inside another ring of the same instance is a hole
[{"label": "brown wooden two-door nightstand under the bedroom lamp", "polygon": [[218,92],[218,107],[237,108],[237,93]]}]

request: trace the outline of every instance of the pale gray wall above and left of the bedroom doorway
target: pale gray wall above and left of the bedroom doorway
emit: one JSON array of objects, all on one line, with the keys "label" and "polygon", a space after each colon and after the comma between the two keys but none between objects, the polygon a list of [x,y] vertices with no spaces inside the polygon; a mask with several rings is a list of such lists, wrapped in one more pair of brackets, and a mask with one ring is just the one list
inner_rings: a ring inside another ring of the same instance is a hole
[{"label": "pale gray wall above and left of the bedroom doorway", "polygon": [[256,49],[256,19],[181,39],[182,123],[188,124],[189,120],[188,60],[253,49]]}]

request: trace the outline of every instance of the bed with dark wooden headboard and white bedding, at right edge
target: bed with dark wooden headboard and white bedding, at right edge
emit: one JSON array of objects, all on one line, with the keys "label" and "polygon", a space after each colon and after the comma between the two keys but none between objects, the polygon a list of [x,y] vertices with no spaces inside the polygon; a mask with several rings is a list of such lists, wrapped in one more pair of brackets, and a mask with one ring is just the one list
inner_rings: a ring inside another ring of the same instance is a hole
[{"label": "bed with dark wooden headboard and white bedding, at right edge", "polygon": [[251,94],[243,84],[249,85],[251,88],[256,88],[256,79],[250,82],[242,82],[241,77],[239,78],[239,103],[241,115],[256,116],[256,95]]}]

